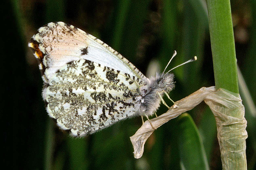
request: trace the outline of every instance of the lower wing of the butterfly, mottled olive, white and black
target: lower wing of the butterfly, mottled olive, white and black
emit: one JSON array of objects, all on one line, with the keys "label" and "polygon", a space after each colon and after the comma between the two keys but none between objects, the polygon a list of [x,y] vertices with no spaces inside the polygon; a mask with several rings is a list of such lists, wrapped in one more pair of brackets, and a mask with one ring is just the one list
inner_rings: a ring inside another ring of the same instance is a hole
[{"label": "lower wing of the butterfly, mottled olive, white and black", "polygon": [[143,80],[84,59],[58,70],[43,90],[47,112],[74,136],[84,136],[136,114]]}]

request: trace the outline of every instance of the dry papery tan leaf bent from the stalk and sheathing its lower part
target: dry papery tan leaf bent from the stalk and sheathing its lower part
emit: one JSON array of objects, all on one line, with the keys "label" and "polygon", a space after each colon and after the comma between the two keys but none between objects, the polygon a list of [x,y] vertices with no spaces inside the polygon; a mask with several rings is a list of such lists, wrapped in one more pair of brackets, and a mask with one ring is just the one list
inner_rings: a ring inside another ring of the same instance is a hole
[{"label": "dry papery tan leaf bent from the stalk and sheathing its lower part", "polygon": [[[170,119],[193,109],[202,101],[211,108],[216,119],[223,169],[244,169],[246,167],[245,139],[247,132],[242,100],[238,94],[221,88],[216,90],[214,86],[200,88],[186,98],[175,102],[166,113],[146,121],[130,137],[134,148],[134,158],[142,156],[144,144],[154,130]],[[239,163],[234,164],[234,161]]]}]

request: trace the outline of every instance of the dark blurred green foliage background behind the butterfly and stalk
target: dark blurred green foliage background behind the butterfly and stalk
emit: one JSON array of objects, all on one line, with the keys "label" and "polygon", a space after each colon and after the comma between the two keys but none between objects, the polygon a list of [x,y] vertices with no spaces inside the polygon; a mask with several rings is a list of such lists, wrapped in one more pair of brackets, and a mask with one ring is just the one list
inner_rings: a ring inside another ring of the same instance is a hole
[{"label": "dark blurred green foliage background behind the butterfly and stalk", "polygon": [[[38,64],[26,47],[36,29],[50,21],[64,21],[98,37],[144,74],[153,60],[163,70],[174,50],[178,55],[169,69],[196,55],[198,61],[173,70],[176,87],[170,96],[174,101],[180,100],[202,86],[214,85],[204,0],[4,0],[0,8],[1,160],[6,167],[182,169],[193,168],[194,155],[201,162],[196,164],[197,169],[207,169],[207,165],[221,169],[215,120],[204,104],[189,112],[195,124],[184,114],[157,129],[138,160],[133,158],[129,137],[140,127],[140,117],[118,122],[83,139],[60,131],[44,109]],[[231,9],[238,65],[255,104],[256,2],[231,0]],[[248,169],[255,169],[256,117],[245,109],[247,163]],[[161,106],[157,114],[166,110]],[[196,147],[201,150],[195,152]]]}]

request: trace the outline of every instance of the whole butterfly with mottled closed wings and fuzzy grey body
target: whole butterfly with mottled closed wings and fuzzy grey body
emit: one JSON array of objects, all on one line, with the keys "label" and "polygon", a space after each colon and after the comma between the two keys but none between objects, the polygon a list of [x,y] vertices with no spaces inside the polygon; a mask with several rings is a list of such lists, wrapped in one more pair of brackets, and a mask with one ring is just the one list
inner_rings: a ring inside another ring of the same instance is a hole
[{"label": "whole butterfly with mottled closed wings and fuzzy grey body", "polygon": [[64,22],[40,27],[28,47],[38,59],[46,111],[72,136],[153,115],[174,88],[174,74],[147,78],[106,43]]}]

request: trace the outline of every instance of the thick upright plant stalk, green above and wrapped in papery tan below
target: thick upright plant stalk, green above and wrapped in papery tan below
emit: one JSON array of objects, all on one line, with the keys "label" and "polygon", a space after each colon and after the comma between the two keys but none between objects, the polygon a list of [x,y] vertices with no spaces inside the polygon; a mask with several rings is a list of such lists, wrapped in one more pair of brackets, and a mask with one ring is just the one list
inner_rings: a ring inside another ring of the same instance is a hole
[{"label": "thick upright plant stalk, green above and wrapped in papery tan below", "polygon": [[[239,97],[230,1],[207,0],[206,2],[216,89],[224,88],[233,93],[232,95]],[[223,100],[226,99],[223,98]],[[246,170],[245,139],[247,132],[245,131],[244,107],[233,104],[229,111],[226,112],[222,109],[214,116],[217,124],[222,168]]]}]

